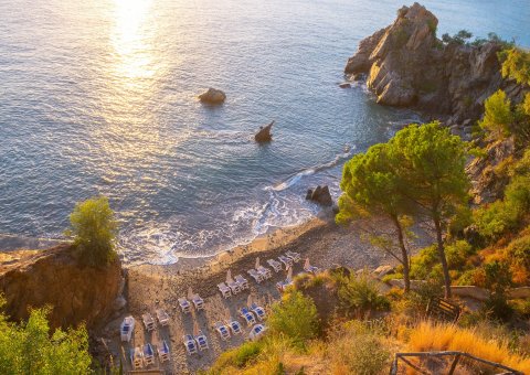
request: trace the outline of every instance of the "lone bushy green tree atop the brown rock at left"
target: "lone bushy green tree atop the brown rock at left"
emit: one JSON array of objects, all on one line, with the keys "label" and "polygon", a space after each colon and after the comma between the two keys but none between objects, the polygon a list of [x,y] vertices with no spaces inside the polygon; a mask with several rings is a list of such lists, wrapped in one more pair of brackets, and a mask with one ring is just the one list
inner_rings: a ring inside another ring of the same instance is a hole
[{"label": "lone bushy green tree atop the brown rock at left", "polygon": [[74,244],[84,262],[104,266],[116,258],[115,240],[118,226],[105,196],[77,203],[70,215]]}]

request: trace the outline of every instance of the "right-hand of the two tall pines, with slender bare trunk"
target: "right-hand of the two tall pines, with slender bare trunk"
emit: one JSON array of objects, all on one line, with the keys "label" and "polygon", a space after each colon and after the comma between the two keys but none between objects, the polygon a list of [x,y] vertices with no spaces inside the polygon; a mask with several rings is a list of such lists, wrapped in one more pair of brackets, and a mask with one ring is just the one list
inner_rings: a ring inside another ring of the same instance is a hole
[{"label": "right-hand of the two tall pines, with slender bare trunk", "polygon": [[466,143],[449,129],[434,121],[411,125],[390,140],[395,173],[403,181],[403,193],[430,217],[444,274],[445,294],[451,297],[451,278],[443,231],[458,206],[467,203],[469,180],[465,173]]}]

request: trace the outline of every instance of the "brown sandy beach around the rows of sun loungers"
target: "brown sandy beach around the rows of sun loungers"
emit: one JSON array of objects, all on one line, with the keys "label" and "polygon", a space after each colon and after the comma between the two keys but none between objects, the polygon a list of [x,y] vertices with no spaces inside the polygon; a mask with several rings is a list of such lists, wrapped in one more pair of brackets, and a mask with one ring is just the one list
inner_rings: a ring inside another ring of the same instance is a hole
[{"label": "brown sandy beach around the rows of sun loungers", "polygon": [[[416,240],[416,243],[422,243]],[[418,244],[424,245],[424,244]],[[135,346],[151,343],[155,349],[161,340],[166,340],[171,350],[171,360],[165,364],[156,362],[149,368],[160,368],[167,374],[193,374],[208,368],[224,351],[235,347],[248,338],[250,328],[239,317],[239,309],[250,302],[256,302],[265,310],[272,302],[279,299],[276,282],[286,278],[286,271],[273,272],[273,278],[256,283],[247,270],[253,268],[256,257],[261,264],[277,258],[287,250],[297,251],[301,258],[309,258],[311,265],[327,269],[337,265],[352,269],[373,269],[380,265],[393,265],[392,257],[360,240],[360,231],[354,226],[339,226],[328,214],[311,219],[300,226],[280,228],[255,239],[248,245],[236,247],[209,259],[180,259],[169,266],[137,266],[127,270],[127,283],[124,294],[128,301],[126,311],[102,330],[103,342],[110,354],[121,358],[124,368],[131,369],[128,353]],[[296,264],[294,275],[303,271],[304,260]],[[225,300],[216,286],[225,281],[227,270],[232,276],[242,275],[251,288]],[[204,311],[183,314],[178,304],[178,298],[187,297],[189,288],[199,293],[205,301]],[[150,312],[153,317],[157,309],[166,310],[170,315],[167,326],[157,326],[150,333],[145,331],[141,315]],[[120,343],[119,324],[127,315],[136,320],[134,336],[130,343]],[[232,336],[226,342],[220,340],[212,329],[216,321],[237,319],[244,326],[243,335]],[[197,333],[206,335],[210,350],[194,355],[187,355],[182,343],[184,334]]]}]

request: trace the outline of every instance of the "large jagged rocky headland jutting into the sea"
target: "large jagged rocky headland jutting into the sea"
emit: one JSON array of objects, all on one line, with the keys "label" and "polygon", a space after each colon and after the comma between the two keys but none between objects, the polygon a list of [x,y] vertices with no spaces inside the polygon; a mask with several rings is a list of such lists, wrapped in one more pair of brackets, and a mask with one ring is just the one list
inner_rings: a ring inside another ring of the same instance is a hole
[{"label": "large jagged rocky headland jutting into the sea", "polygon": [[499,88],[520,101],[520,87],[501,78],[500,44],[444,45],[437,24],[417,2],[403,7],[390,26],[361,41],[344,73],[365,74],[378,103],[418,109],[448,125],[477,120],[484,100]]}]

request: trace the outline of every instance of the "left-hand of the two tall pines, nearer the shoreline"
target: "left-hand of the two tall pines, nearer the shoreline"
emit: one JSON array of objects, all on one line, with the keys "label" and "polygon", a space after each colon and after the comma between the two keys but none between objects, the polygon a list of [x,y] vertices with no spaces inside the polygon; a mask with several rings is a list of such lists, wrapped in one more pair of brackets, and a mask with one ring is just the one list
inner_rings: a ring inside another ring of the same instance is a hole
[{"label": "left-hand of the two tall pines, nearer the shoreline", "polygon": [[405,244],[406,219],[409,208],[407,197],[402,193],[402,181],[395,173],[395,159],[389,152],[388,143],[380,143],[359,153],[344,164],[340,189],[343,194],[339,199],[337,222],[370,217],[388,217],[395,228],[398,247],[401,254],[395,254],[394,246],[383,236],[372,237],[374,244],[403,265],[405,291],[411,288],[410,259]]}]

